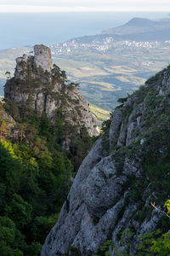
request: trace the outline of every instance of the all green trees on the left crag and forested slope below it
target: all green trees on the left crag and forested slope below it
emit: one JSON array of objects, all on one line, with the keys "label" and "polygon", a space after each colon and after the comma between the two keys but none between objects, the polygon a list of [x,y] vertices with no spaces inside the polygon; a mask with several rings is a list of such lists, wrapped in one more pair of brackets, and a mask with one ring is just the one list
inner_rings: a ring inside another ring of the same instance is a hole
[{"label": "all green trees on the left crag and forested slope below it", "polygon": [[[94,137],[89,136],[87,128],[80,125],[77,117],[74,124],[65,119],[67,102],[76,104],[76,111],[81,114],[79,102],[68,99],[65,93],[65,90],[75,90],[78,84],[69,83],[65,72],[56,65],[48,73],[33,64],[32,58],[27,66],[26,61],[18,62],[22,66],[20,78],[8,79],[5,86],[10,90],[0,102],[2,256],[40,255],[77,168],[94,143]],[[53,91],[55,84],[62,86],[61,94]],[[37,88],[61,102],[53,109],[52,118],[48,117],[47,109],[32,108],[32,94]],[[15,96],[26,93],[28,99],[14,102],[9,96],[11,90]],[[66,114],[72,118],[71,113]],[[65,150],[63,145],[68,135],[70,145]]]}]

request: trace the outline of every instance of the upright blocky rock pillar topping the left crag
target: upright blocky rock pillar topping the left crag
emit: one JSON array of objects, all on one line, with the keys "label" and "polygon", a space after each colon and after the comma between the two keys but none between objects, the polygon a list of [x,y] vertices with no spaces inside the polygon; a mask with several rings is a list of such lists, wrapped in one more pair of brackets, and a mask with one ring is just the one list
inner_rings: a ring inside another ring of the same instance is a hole
[{"label": "upright blocky rock pillar topping the left crag", "polygon": [[42,67],[44,70],[50,71],[52,69],[51,50],[43,44],[35,45],[34,61],[37,67]]}]

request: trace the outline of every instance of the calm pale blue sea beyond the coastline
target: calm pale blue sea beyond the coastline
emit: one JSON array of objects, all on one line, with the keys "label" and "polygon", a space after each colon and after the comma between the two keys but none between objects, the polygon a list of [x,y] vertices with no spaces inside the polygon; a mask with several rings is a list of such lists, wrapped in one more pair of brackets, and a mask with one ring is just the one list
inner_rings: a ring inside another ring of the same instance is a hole
[{"label": "calm pale blue sea beyond the coastline", "polygon": [[1,14],[0,49],[33,44],[56,44],[121,26],[133,17],[166,18],[166,13]]}]

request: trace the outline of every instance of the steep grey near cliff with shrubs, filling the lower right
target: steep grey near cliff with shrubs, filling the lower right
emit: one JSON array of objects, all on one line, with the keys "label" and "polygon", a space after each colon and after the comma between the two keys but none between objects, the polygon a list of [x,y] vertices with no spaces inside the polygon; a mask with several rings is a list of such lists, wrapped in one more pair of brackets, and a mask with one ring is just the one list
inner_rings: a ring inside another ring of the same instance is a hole
[{"label": "steep grey near cliff with shrubs, filling the lower right", "polygon": [[107,240],[115,245],[112,256],[136,255],[142,234],[160,223],[166,229],[161,209],[170,195],[170,67],[120,102],[82,162],[42,256],[93,255]]}]

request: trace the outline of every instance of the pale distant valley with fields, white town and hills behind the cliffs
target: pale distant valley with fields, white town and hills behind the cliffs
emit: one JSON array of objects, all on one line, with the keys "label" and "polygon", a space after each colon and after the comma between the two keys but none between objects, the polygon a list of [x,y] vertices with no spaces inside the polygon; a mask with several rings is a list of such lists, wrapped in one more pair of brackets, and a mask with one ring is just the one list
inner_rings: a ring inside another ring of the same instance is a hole
[{"label": "pale distant valley with fields, white town and hills behind the cliffs", "polygon": [[[167,38],[158,34],[168,29],[169,20],[158,22],[159,26],[156,22],[141,20],[143,26],[140,19],[133,19],[98,35],[50,45],[54,63],[65,70],[68,79],[80,84],[82,95],[99,118],[99,125],[117,106],[118,98],[137,90],[146,79],[170,63],[167,54],[170,38],[168,34]],[[144,27],[148,27],[146,34],[150,33],[150,40],[138,40],[146,38]],[[5,72],[13,74],[16,56],[29,54],[31,50],[31,46],[0,50],[0,95],[3,95]],[[99,115],[97,109],[100,113],[103,109],[103,113]]]}]

